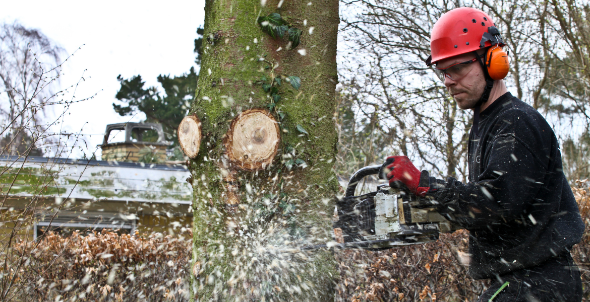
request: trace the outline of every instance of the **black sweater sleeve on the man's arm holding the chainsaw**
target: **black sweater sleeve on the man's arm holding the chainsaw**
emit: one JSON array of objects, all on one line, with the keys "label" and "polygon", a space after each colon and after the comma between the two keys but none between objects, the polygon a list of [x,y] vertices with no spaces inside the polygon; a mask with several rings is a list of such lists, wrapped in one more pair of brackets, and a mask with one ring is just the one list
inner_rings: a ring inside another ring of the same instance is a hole
[{"label": "black sweater sleeve on the man's arm holding the chainsaw", "polygon": [[543,185],[546,163],[513,134],[497,135],[489,150],[479,181],[431,183],[438,211],[468,229],[514,220],[535,224],[527,210]]}]

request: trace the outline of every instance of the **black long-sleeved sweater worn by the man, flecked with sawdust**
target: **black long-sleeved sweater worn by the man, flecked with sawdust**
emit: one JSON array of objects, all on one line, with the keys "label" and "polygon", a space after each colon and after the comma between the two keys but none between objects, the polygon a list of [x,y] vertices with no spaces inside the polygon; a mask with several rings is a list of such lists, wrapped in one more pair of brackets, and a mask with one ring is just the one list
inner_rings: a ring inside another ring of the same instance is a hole
[{"label": "black long-sleeved sweater worn by the man, flecked with sawdust", "polygon": [[545,118],[510,92],[480,116],[479,133],[469,135],[469,182],[431,178],[438,211],[470,231],[475,279],[543,263],[584,231]]}]

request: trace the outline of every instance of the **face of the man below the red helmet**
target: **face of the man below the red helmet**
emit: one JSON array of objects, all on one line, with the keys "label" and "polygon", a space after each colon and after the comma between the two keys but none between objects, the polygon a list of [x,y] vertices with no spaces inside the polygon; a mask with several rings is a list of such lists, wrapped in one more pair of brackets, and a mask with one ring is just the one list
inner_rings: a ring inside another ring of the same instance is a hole
[{"label": "face of the man below the red helmet", "polygon": [[[448,59],[443,59],[437,62],[437,68],[447,68],[453,64],[469,61],[473,59],[473,53],[457,55]],[[486,78],[483,74],[481,65],[476,61],[468,64],[470,69],[467,74],[456,81],[445,77],[444,85],[447,87],[448,93],[453,96],[455,102],[461,109],[474,108],[486,88]]]}]

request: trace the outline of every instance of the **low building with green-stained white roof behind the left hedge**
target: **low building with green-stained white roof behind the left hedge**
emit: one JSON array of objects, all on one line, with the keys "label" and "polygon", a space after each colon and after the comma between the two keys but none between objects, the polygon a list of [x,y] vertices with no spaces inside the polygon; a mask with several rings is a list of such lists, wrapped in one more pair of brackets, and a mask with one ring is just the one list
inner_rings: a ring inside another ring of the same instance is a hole
[{"label": "low building with green-stained white roof behind the left hedge", "polygon": [[0,211],[33,215],[28,234],[35,238],[47,230],[174,234],[192,227],[190,172],[182,164],[2,156],[0,172]]}]

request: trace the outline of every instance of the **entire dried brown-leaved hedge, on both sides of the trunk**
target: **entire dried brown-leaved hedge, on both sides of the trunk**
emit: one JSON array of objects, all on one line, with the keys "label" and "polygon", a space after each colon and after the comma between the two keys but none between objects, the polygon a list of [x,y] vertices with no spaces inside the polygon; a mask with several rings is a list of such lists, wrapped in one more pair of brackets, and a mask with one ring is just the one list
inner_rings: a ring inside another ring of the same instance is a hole
[{"label": "entire dried brown-leaved hedge, on both sides of the trunk", "polygon": [[[588,183],[573,188],[590,225]],[[337,251],[336,301],[474,301],[488,286],[467,277],[468,232],[388,251]],[[15,301],[188,301],[190,240],[113,232],[70,237],[48,233],[40,244],[18,244],[25,255]],[[590,301],[590,230],[572,254]]]}]

